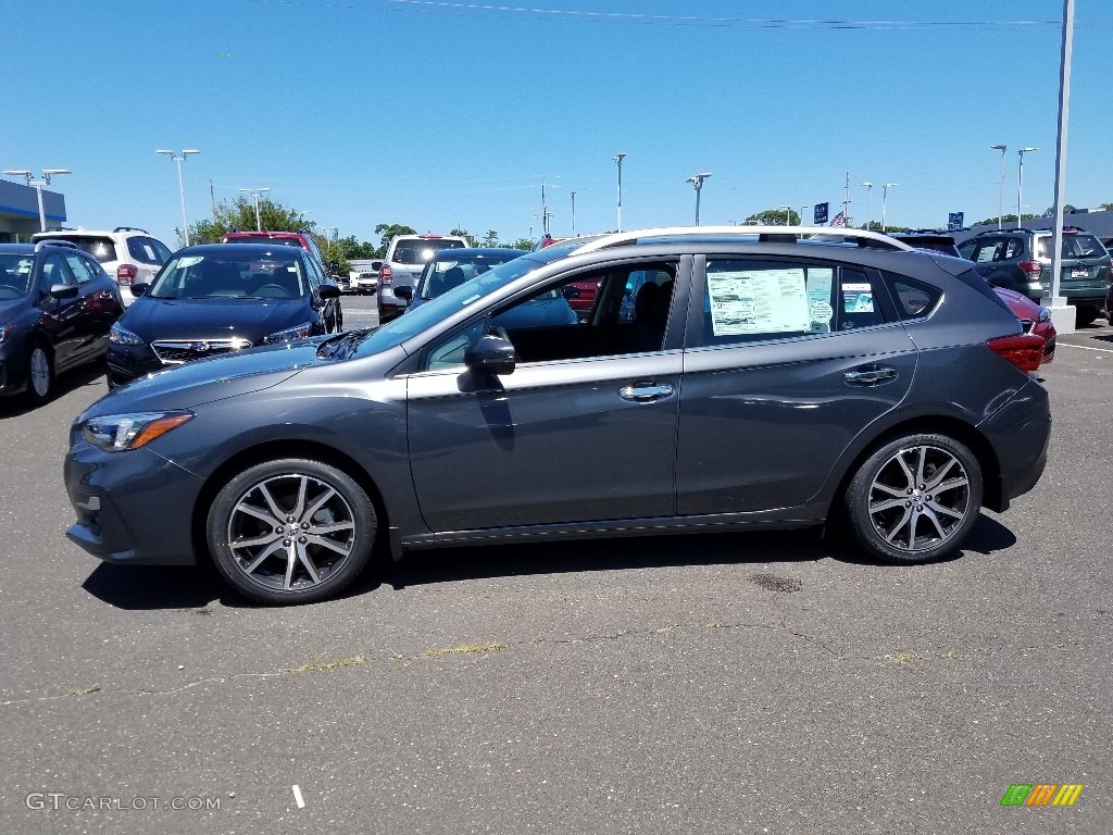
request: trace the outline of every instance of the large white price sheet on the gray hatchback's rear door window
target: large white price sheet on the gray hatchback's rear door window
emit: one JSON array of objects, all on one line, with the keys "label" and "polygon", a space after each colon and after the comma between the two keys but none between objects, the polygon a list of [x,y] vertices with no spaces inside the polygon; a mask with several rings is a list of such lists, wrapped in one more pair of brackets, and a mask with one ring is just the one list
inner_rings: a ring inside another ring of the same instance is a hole
[{"label": "large white price sheet on the gray hatchback's rear door window", "polygon": [[808,331],[802,268],[708,273],[707,287],[716,336]]}]

